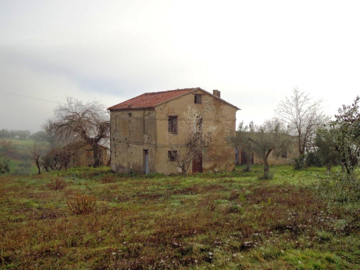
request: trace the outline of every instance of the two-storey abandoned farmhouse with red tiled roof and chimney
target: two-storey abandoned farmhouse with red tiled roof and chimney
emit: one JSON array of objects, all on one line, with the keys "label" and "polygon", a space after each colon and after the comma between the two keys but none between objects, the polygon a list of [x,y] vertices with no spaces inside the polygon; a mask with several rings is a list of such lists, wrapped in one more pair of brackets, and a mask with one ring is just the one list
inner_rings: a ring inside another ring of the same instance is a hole
[{"label": "two-storey abandoned farmhouse with red tiled roof and chimney", "polygon": [[220,91],[201,88],[145,93],[119,103],[111,114],[111,169],[116,172],[181,172],[172,161],[166,134],[176,134],[174,143],[186,147],[182,132],[189,104],[197,106],[202,125],[216,126],[210,147],[193,160],[189,172],[229,171],[235,166],[235,147],[226,138],[235,134],[236,106],[220,98]]}]

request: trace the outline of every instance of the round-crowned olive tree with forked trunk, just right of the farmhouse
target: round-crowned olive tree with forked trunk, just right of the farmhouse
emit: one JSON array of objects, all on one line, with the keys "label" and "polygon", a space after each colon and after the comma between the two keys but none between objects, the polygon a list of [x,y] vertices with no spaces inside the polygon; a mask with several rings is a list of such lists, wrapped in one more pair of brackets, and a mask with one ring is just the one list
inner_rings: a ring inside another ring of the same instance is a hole
[{"label": "round-crowned olive tree with forked trunk, just right of the farmhouse", "polygon": [[238,131],[232,138],[235,146],[244,148],[250,153],[262,159],[264,163],[264,175],[268,179],[269,162],[271,153],[275,157],[281,156],[285,151],[292,148],[293,137],[289,135],[288,128],[278,118],[266,120],[262,125],[254,125],[250,122],[248,126],[240,123]]}]

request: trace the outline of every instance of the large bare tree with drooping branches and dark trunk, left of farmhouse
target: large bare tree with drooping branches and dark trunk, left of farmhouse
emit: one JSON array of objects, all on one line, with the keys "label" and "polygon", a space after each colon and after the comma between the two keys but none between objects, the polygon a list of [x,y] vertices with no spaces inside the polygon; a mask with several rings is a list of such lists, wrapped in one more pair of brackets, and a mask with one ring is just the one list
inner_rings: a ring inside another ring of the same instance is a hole
[{"label": "large bare tree with drooping branches and dark trunk, left of farmhouse", "polygon": [[94,167],[99,167],[99,143],[107,141],[110,134],[110,121],[104,105],[98,100],[84,103],[67,97],[67,104],[59,104],[54,114],[55,119],[48,123],[51,134],[62,145],[80,141],[90,144],[94,150]]}]

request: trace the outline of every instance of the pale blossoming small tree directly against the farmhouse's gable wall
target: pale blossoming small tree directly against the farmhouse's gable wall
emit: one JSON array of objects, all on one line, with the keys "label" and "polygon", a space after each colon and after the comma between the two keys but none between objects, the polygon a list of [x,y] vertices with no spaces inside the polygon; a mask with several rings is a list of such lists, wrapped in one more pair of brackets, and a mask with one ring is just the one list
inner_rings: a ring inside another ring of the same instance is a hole
[{"label": "pale blossoming small tree directly against the farmhouse's gable wall", "polygon": [[183,144],[174,143],[174,133],[167,133],[168,147],[171,149],[171,157],[181,168],[183,176],[187,176],[187,171],[193,159],[197,160],[204,156],[204,149],[211,145],[216,126],[202,125],[202,117],[198,109],[189,105],[184,113],[184,125],[182,132],[185,134]]}]

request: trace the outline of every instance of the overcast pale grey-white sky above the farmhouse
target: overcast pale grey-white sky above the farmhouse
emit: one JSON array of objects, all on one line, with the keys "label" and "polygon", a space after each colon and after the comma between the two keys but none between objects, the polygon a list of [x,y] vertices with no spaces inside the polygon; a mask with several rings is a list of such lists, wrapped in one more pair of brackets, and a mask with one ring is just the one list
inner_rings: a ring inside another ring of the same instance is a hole
[{"label": "overcast pale grey-white sky above the farmhouse", "polygon": [[[261,123],[292,87],[334,114],[359,91],[359,1],[2,1],[0,91],[107,106],[202,87]],[[55,103],[0,93],[0,129]]]}]

